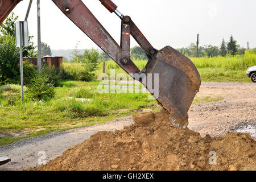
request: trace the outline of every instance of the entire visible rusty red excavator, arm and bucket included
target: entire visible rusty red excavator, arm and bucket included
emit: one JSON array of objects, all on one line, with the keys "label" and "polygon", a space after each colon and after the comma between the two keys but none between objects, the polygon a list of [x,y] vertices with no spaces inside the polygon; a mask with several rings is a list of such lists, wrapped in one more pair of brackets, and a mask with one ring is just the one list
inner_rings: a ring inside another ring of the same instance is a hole
[{"label": "entire visible rusty red excavator, arm and bucket included", "polygon": [[[152,47],[130,16],[122,15],[111,0],[99,1],[110,13],[117,14],[121,19],[120,45],[81,0],[52,1],[126,73],[146,86],[159,105],[170,113],[170,121],[174,125],[187,127],[187,113],[201,85],[199,72],[188,57],[170,46],[160,50]],[[19,2],[0,0],[0,23]],[[148,63],[142,71],[130,59],[130,36],[133,36],[148,57]]]}]

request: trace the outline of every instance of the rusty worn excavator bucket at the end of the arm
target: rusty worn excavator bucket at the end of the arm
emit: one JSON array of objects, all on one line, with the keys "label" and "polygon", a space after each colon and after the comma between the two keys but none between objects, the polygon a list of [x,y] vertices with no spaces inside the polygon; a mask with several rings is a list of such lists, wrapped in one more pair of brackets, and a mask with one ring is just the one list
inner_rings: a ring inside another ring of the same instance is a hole
[{"label": "rusty worn excavator bucket at the end of the arm", "polygon": [[148,61],[144,74],[146,76],[142,77],[142,84],[147,86],[148,79],[152,78],[152,85],[158,87],[159,93],[155,92],[156,88],[147,89],[163,109],[170,113],[170,121],[185,129],[189,107],[201,85],[195,65],[188,57],[167,46]]}]

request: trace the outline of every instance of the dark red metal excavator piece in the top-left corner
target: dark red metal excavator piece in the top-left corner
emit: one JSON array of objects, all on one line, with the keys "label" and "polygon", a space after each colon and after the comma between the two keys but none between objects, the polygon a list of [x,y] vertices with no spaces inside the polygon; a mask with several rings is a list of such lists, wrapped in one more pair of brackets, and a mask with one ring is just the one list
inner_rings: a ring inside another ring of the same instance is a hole
[{"label": "dark red metal excavator piece in the top-left corner", "polygon": [[6,19],[6,17],[13,11],[14,7],[21,0],[2,0],[0,1],[0,24]]}]

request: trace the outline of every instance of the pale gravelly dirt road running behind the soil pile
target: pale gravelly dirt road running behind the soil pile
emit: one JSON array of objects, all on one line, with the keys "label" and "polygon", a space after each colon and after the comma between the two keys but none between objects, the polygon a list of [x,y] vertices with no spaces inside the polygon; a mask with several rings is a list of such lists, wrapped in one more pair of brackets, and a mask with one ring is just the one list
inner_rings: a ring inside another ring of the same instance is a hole
[{"label": "pale gravelly dirt road running behind the soil pile", "polygon": [[[228,131],[250,133],[255,139],[256,84],[203,82],[197,97],[224,98],[224,100],[192,105],[189,110],[189,129],[202,136],[224,135]],[[97,131],[114,131],[131,125],[131,117],[115,119],[102,125],[59,131],[39,137],[20,140],[0,147],[0,156],[9,156],[12,162],[0,166],[0,170],[19,170],[35,167],[41,162],[56,158],[69,147],[88,139]],[[46,159],[44,160],[44,155]]]}]

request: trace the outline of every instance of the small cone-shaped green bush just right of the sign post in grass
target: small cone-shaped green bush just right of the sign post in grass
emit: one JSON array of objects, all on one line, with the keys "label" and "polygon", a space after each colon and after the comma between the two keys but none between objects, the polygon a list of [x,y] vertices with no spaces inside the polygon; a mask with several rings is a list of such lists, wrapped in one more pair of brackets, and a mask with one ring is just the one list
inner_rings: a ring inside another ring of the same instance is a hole
[{"label": "small cone-shaped green bush just right of the sign post in grass", "polygon": [[49,100],[55,96],[55,87],[42,69],[27,85],[27,96],[31,100]]}]

